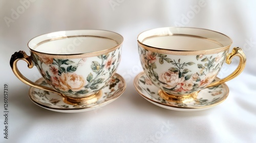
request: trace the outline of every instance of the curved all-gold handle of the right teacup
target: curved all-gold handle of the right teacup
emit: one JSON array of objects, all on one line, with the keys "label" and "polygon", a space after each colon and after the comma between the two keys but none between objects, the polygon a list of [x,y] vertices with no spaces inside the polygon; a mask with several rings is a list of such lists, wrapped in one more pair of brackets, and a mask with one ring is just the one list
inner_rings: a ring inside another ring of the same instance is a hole
[{"label": "curved all-gold handle of the right teacup", "polygon": [[211,86],[216,86],[216,85],[219,85],[219,84],[224,83],[226,81],[229,81],[229,80],[231,80],[233,78],[236,78],[239,74],[242,73],[242,71],[243,71],[243,69],[245,67],[246,57],[245,57],[244,52],[242,51],[242,49],[240,47],[234,47],[233,48],[232,52],[227,55],[226,63],[230,64],[231,63],[231,59],[234,56],[238,56],[240,58],[240,62],[239,62],[239,65],[238,65],[237,69],[234,70],[233,73],[231,73],[226,78],[221,79],[221,80],[216,81],[216,82],[213,82],[213,83],[209,84],[208,86],[206,86],[206,88],[211,87]]}]

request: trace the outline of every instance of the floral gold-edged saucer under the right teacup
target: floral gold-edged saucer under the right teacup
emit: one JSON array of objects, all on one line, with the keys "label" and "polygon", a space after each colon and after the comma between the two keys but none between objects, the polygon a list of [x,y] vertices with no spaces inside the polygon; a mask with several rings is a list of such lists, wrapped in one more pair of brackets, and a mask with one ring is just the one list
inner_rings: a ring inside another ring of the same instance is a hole
[{"label": "floral gold-edged saucer under the right teacup", "polygon": [[[219,80],[219,78],[215,78]],[[134,86],[139,94],[147,101],[162,108],[177,111],[198,111],[214,107],[222,103],[228,96],[229,89],[225,83],[218,86],[209,87],[199,91],[194,101],[186,103],[169,102],[162,99],[157,88],[144,72],[138,74],[134,79]]]}]

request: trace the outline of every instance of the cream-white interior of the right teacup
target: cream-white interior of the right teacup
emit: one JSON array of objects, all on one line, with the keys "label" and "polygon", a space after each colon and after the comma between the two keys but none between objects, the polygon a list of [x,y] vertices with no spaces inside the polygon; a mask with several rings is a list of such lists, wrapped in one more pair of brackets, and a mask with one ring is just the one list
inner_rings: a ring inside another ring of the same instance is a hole
[{"label": "cream-white interior of the right teacup", "polygon": [[229,46],[232,40],[222,33],[206,29],[166,27],[142,32],[138,42],[158,49],[207,51]]}]

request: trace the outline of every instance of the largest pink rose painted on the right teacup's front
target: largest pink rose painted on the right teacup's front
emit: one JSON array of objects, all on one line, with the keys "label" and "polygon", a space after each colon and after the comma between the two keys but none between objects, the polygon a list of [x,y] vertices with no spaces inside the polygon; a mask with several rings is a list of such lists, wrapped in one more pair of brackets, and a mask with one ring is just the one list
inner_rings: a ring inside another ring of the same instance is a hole
[{"label": "largest pink rose painted on the right teacup's front", "polygon": [[166,83],[164,85],[165,88],[170,89],[176,87],[177,84],[183,82],[185,79],[184,77],[179,78],[178,73],[174,73],[173,71],[168,70],[160,75],[159,80]]}]

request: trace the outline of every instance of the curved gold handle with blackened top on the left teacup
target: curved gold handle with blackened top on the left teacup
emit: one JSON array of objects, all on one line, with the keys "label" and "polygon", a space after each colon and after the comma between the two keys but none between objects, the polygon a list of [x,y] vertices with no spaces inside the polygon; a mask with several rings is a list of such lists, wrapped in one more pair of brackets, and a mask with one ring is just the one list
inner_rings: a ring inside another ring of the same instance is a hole
[{"label": "curved gold handle with blackened top on the left teacup", "polygon": [[37,84],[35,82],[30,81],[29,79],[27,79],[26,77],[24,77],[20,71],[17,68],[17,62],[18,60],[24,60],[28,63],[28,67],[32,68],[34,66],[33,62],[32,62],[32,58],[30,56],[28,56],[24,51],[19,51],[19,52],[15,52],[10,60],[10,65],[12,68],[13,73],[15,74],[15,76],[22,82],[24,82],[25,84],[29,85],[29,86],[33,86],[35,88],[39,88],[39,89],[43,89],[43,90],[47,90],[47,91],[51,91],[51,92],[55,92],[58,93],[57,91],[55,91],[54,89],[50,88],[50,87],[46,87],[46,86],[42,86],[40,84]]}]

